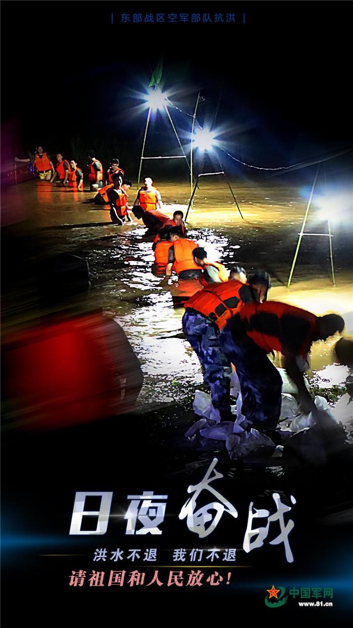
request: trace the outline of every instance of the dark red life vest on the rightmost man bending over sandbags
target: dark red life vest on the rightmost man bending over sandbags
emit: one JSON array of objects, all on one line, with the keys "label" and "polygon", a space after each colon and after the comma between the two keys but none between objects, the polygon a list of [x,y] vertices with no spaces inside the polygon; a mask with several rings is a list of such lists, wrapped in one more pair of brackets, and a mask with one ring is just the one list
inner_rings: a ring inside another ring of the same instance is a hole
[{"label": "dark red life vest on the rightmost man bending over sandbags", "polygon": [[266,353],[273,350],[282,352],[283,347],[280,338],[283,337],[283,333],[285,335],[290,333],[288,332],[288,325],[283,332],[281,325],[283,317],[300,318],[304,325],[307,322],[307,330],[303,332],[304,338],[299,351],[299,354],[305,357],[310,350],[313,336],[317,330],[317,317],[314,314],[277,301],[246,303],[240,312],[246,334]]}]

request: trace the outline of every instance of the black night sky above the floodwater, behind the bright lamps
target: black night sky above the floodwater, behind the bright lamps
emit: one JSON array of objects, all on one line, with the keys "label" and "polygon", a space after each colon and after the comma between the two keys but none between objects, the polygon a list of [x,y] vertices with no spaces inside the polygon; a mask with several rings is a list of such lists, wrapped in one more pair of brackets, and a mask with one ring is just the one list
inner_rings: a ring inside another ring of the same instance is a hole
[{"label": "black night sky above the floodwater, behind the bright lamps", "polygon": [[[201,90],[199,121],[218,109],[216,126],[229,127],[230,152],[243,160],[288,165],[344,149],[353,144],[349,9],[344,1],[5,0],[3,122],[18,123],[18,151],[43,143],[65,153],[78,136],[84,150],[118,145],[135,163],[145,113],[132,116],[130,90],[142,90],[164,52],[166,88],[179,90],[171,100],[191,113]],[[122,10],[245,12],[246,24],[121,24]],[[190,127],[191,118],[172,115],[179,130]],[[159,128],[150,151],[155,141],[161,153],[164,136]]]}]

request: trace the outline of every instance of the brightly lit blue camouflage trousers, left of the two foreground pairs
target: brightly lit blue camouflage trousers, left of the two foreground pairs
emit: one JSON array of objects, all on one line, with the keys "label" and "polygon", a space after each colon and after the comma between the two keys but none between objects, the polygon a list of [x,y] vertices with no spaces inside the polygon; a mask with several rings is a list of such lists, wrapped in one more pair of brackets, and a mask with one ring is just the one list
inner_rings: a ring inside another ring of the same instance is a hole
[{"label": "brightly lit blue camouflage trousers, left of the two foreground pairs", "polygon": [[182,329],[203,367],[214,408],[218,409],[221,419],[229,419],[231,364],[219,346],[218,328],[203,314],[186,310]]}]

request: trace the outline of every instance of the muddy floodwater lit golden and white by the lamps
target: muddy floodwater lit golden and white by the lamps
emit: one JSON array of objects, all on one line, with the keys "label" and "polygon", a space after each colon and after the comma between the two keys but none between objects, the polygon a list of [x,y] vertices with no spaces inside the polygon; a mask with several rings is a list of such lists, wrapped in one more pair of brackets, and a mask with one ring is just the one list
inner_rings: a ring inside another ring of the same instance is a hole
[{"label": "muddy floodwater lit golden and white by the lamps", "polygon": [[[188,185],[159,183],[166,214],[176,209],[184,214],[189,201]],[[351,266],[349,259],[352,227],[332,208],[335,286],[332,285],[329,239],[305,236],[298,255],[290,290],[288,274],[297,246],[298,232],[307,206],[307,195],[299,188],[266,181],[248,187],[232,182],[243,219],[229,188],[208,181],[200,185],[189,212],[189,237],[204,246],[208,258],[230,269],[241,264],[248,274],[265,269],[271,275],[271,300],[285,301],[317,315],[330,311],[345,318],[352,332]],[[129,203],[136,189],[129,192]],[[122,227],[110,222],[108,208],[87,203],[95,193],[77,193],[50,183],[28,181],[8,190],[3,212],[24,212],[31,219],[31,237],[51,253],[71,252],[85,257],[93,274],[88,304],[98,306],[125,330],[144,371],[140,393],[141,409],[174,402],[187,404],[203,377],[198,359],[182,337],[183,308],[175,308],[176,296],[200,288],[197,281],[179,282],[174,275],[166,282],[152,274],[154,254],[151,239],[135,219]],[[327,232],[315,203],[306,227],[310,233]],[[173,301],[174,297],[174,301]],[[320,386],[342,384],[347,369],[332,366],[329,342],[317,342],[312,351],[312,373]]]}]

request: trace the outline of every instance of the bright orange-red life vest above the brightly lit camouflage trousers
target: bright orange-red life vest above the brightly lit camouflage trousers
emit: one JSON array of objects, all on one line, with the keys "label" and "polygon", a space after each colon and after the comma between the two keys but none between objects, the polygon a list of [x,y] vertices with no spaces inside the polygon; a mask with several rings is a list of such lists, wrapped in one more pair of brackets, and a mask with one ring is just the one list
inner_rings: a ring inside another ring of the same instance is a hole
[{"label": "bright orange-red life vest above the brightly lit camouflage trousers", "polygon": [[245,305],[239,295],[244,285],[238,279],[208,284],[187,301],[185,308],[200,312],[222,329],[229,318]]}]

